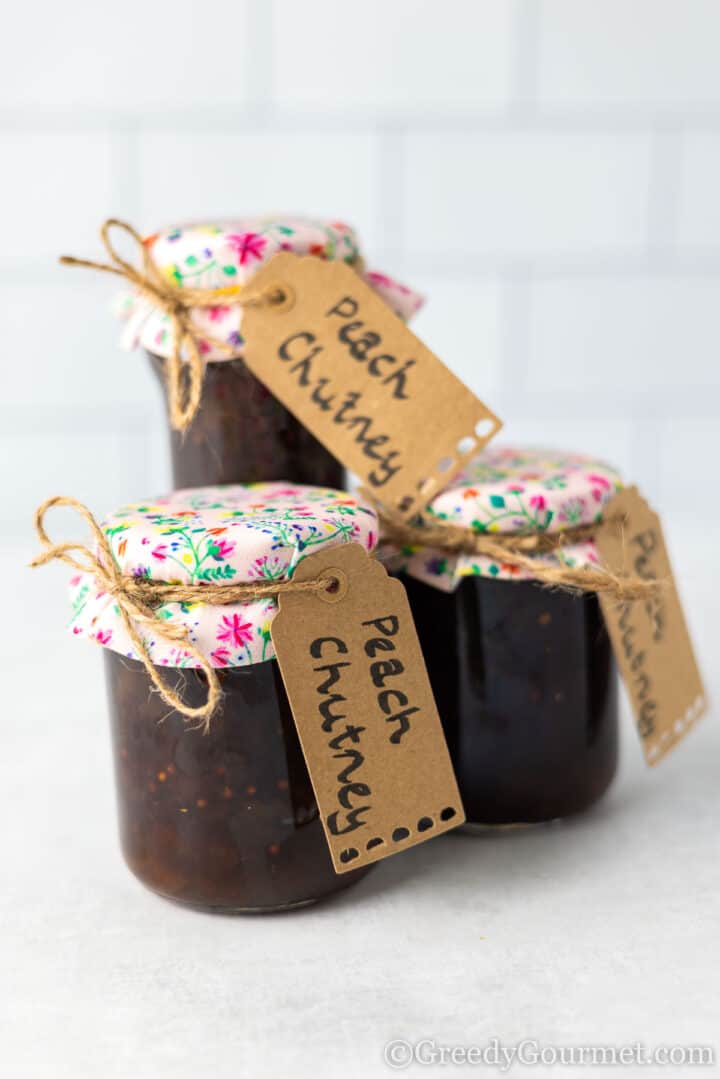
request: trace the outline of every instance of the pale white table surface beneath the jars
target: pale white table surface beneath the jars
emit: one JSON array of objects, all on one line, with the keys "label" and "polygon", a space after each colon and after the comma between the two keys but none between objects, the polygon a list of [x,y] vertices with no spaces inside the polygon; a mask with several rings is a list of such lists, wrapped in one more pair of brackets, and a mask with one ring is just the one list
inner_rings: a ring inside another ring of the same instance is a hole
[{"label": "pale white table surface beneath the jars", "polygon": [[[704,531],[675,550],[717,699],[720,598],[704,573],[717,552]],[[720,1055],[715,714],[650,770],[626,713],[617,781],[567,823],[451,834],[295,914],[185,911],[121,860],[100,657],[63,632],[64,572],[22,571],[31,552],[15,552],[8,582],[24,625],[4,624],[2,639],[0,1075],[368,1079],[392,1074],[395,1038],[715,1043]],[[526,1071],[551,1074],[513,1069]]]}]

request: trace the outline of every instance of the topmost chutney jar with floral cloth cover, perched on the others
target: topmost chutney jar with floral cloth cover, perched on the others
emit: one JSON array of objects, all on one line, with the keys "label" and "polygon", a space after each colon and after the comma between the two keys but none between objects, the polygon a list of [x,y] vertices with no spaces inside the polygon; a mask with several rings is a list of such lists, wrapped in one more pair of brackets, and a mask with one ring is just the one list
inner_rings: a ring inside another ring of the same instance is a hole
[{"label": "topmost chutney jar with floral cloth cover, perched on the others", "polygon": [[[176,288],[217,289],[218,302],[191,309],[203,360],[202,396],[187,429],[174,429],[168,404],[173,482],[177,488],[249,483],[284,476],[291,482],[342,487],[343,467],[249,370],[243,360],[243,311],[222,289],[242,286],[277,251],[293,251],[356,267],[403,318],[421,304],[410,289],[366,272],[353,230],[337,221],[261,217],[184,224],[144,241],[161,277]],[[161,383],[174,349],[168,312],[152,296],[123,299],[126,347],[141,346]],[[205,334],[205,336],[203,336]]]}]

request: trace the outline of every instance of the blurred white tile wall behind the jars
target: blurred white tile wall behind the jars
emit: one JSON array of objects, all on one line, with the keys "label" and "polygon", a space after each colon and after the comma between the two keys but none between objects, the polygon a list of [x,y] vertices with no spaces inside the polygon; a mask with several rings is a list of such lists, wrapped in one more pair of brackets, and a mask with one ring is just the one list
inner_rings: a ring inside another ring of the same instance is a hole
[{"label": "blurred white tile wall behind the jars", "polygon": [[429,297],[506,437],[604,454],[683,521],[720,449],[715,0],[78,0],[0,35],[3,533],[167,481],[97,226],[344,217]]}]

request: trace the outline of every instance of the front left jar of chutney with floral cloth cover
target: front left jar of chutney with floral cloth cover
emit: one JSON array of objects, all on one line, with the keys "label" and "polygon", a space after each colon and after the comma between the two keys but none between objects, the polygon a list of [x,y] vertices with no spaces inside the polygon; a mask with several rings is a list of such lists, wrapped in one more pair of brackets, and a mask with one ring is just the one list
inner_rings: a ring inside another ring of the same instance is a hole
[{"label": "front left jar of chutney with floral cloth cover", "polygon": [[[153,692],[113,596],[92,572],[71,582],[71,630],[104,646],[120,836],[148,888],[207,911],[312,903],[366,872],[336,875],[274,658],[276,598],[214,604],[222,585],[284,582],[320,547],[377,537],[373,510],[334,490],[256,483],[177,491],[108,516],[124,577],[206,586],[207,602],[167,602],[138,624],[149,657],[184,704],[208,684],[160,627],[186,627],[222,698],[207,730]],[[159,622],[155,622],[159,619]]]}]

